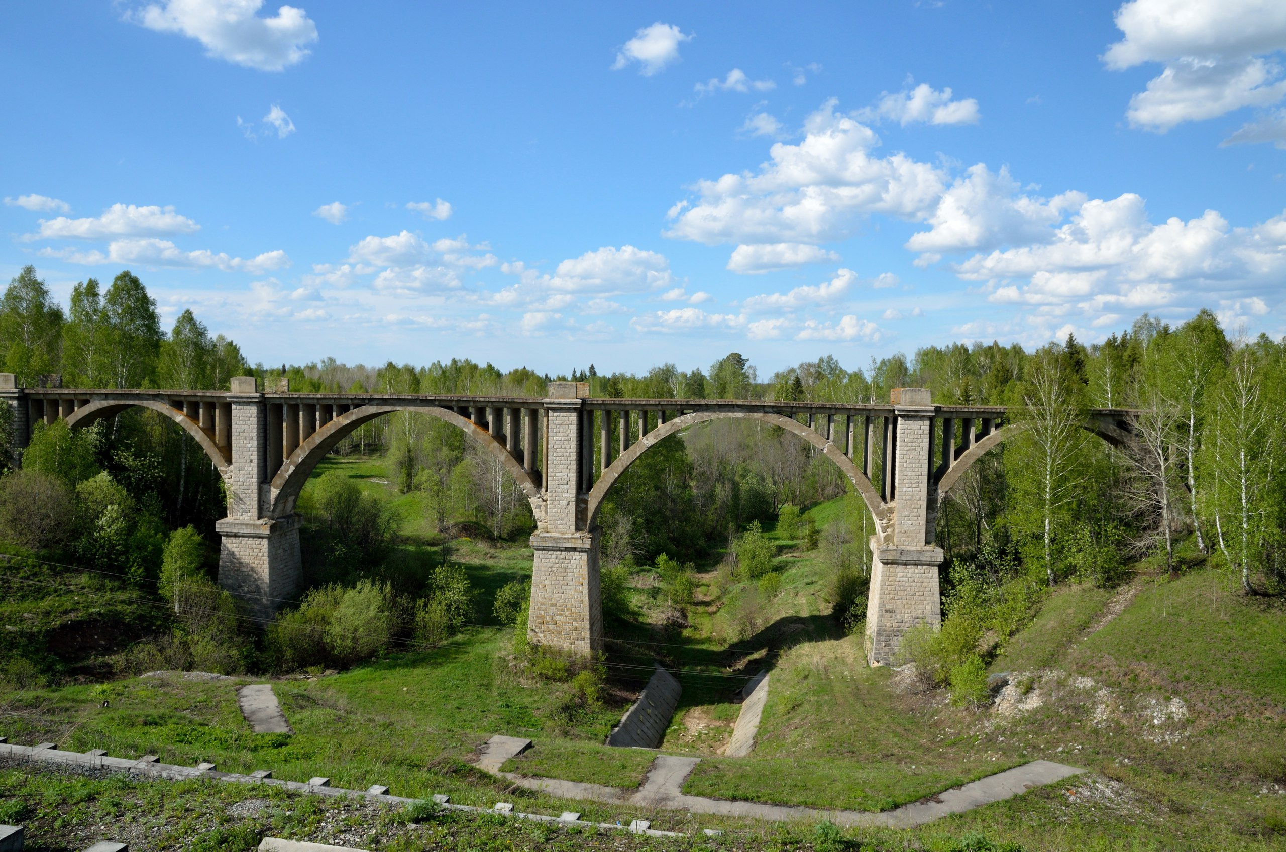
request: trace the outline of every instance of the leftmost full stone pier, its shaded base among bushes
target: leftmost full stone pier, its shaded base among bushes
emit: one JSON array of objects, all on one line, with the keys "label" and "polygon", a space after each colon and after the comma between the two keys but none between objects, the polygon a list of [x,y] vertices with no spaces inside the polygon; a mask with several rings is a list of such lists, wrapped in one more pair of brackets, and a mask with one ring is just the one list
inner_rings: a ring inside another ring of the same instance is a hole
[{"label": "leftmost full stone pier, its shaded base among bushes", "polygon": [[[228,405],[233,465],[226,480],[228,517],[215,524],[220,535],[219,584],[262,624],[298,588],[300,516],[265,517],[267,481],[276,472],[267,457],[274,445],[278,456],[282,452],[280,403],[265,403],[255,390],[255,378],[239,376],[231,380]],[[275,432],[267,427],[273,412]]]}]

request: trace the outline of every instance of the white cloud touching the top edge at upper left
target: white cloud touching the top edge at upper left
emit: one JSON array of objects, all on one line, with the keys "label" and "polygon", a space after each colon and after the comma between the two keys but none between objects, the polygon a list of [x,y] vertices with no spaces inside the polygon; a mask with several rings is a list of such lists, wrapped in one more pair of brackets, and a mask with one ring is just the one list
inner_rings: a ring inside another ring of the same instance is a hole
[{"label": "white cloud touching the top edge at upper left", "polygon": [[126,15],[157,32],[177,32],[201,41],[206,54],[257,68],[282,71],[301,62],[305,45],[318,40],[316,24],[303,9],[283,5],[276,15],[257,17],[264,0],[165,0]]}]

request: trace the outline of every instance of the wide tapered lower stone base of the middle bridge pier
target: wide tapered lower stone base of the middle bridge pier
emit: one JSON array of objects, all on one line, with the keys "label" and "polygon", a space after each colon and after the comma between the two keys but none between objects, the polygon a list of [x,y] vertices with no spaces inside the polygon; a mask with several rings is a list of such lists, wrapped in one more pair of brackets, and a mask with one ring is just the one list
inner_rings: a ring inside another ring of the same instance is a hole
[{"label": "wide tapered lower stone base of the middle bridge pier", "polygon": [[598,530],[535,533],[527,638],[581,655],[603,650]]}]

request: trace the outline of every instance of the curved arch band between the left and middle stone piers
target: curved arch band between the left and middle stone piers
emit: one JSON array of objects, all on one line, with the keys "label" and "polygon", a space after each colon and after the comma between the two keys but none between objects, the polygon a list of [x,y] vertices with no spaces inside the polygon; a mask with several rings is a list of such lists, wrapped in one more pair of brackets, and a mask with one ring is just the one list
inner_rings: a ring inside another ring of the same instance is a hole
[{"label": "curved arch band between the left and middle stone piers", "polygon": [[377,417],[395,414],[397,412],[413,412],[417,414],[436,417],[458,427],[467,436],[473,439],[473,441],[476,441],[482,449],[491,453],[493,457],[504,465],[505,470],[509,471],[509,475],[518,484],[518,488],[521,488],[522,493],[527,497],[527,502],[531,503],[531,511],[536,516],[538,528],[544,526],[544,498],[540,488],[536,485],[535,480],[532,480],[531,475],[522,470],[522,465],[520,465],[518,461],[509,454],[509,450],[491,438],[490,432],[473,421],[466,420],[455,412],[439,405],[372,404],[361,405],[340,414],[310,435],[306,441],[301,443],[300,447],[291,453],[291,457],[282,463],[280,470],[278,470],[273,476],[271,508],[269,510],[269,516],[285,517],[294,511],[294,503],[300,497],[300,492],[303,489],[303,484],[309,480],[309,476],[312,475],[312,470],[318,466],[318,463],[325,458],[327,453],[334,449],[336,444],[347,438],[359,426],[368,423]]}]

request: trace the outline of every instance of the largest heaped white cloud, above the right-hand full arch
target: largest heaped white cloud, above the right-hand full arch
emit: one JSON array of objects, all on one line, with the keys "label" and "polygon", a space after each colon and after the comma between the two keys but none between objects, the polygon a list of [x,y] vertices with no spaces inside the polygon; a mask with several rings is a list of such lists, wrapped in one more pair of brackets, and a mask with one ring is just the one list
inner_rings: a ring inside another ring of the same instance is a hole
[{"label": "largest heaped white cloud, above the right-hand full arch", "polygon": [[808,117],[799,144],[774,144],[757,174],[698,181],[697,202],[671,208],[666,236],[706,245],[817,243],[847,236],[862,214],[925,218],[945,175],[901,153],[871,156],[878,136],[835,106],[828,100]]}]

